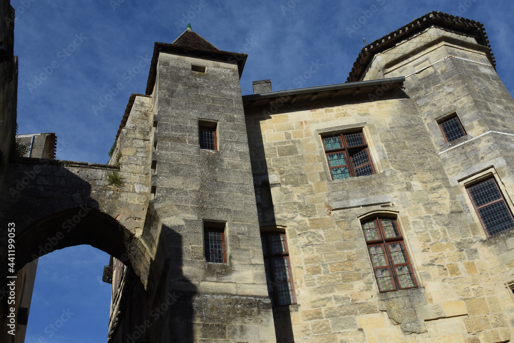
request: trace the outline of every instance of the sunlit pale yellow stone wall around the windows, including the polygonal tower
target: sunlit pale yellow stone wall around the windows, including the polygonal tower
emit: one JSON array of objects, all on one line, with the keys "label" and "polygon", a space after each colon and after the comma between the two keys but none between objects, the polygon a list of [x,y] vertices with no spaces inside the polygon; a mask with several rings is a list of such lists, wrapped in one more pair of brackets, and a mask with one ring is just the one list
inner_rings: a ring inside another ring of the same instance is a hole
[{"label": "sunlit pale yellow stone wall around the windows, including the polygonal tower", "polygon": [[[510,339],[514,303],[505,283],[514,280],[514,233],[486,237],[465,183],[489,173],[507,200],[514,195],[514,103],[483,48],[447,35],[435,43],[417,35],[392,58],[377,56],[373,68],[407,76],[448,55],[487,65],[447,58],[407,77],[405,91],[374,101],[247,110],[253,173],[270,180],[275,221],[287,227],[295,342]],[[468,136],[447,145],[436,120],[453,112]],[[332,180],[321,135],[360,129],[376,174]],[[491,130],[501,133],[472,139]],[[378,291],[361,227],[372,215],[397,219],[418,287]]]}]

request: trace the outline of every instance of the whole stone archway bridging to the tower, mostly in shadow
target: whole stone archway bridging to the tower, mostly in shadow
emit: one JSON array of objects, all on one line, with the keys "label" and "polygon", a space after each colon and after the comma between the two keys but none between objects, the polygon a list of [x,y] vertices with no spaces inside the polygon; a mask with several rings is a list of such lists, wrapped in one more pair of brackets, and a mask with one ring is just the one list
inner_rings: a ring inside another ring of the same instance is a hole
[{"label": "whole stone archway bridging to the tower, mostly in shadow", "polygon": [[[146,194],[107,182],[116,166],[21,158],[1,194],[0,223],[15,224],[16,265],[56,249],[88,244],[130,266],[147,286],[151,257],[140,232]],[[138,201],[131,201],[137,198]],[[116,219],[115,219],[116,218]],[[0,235],[0,278],[7,275],[7,230]]]}]

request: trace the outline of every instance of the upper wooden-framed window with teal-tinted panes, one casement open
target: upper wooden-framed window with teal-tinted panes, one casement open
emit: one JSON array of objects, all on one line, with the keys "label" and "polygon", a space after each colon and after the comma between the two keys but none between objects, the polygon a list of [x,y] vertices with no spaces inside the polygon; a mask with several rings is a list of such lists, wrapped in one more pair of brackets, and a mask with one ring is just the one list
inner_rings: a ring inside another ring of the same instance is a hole
[{"label": "upper wooden-framed window with teal-tinted panes, one casement open", "polygon": [[375,174],[362,130],[324,136],[322,140],[332,179]]}]

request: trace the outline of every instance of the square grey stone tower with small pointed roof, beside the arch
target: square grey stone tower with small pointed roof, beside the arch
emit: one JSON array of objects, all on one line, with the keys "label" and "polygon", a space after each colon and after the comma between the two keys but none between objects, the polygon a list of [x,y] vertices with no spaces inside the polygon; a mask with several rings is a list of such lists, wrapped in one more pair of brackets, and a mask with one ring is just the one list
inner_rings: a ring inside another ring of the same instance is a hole
[{"label": "square grey stone tower with small pointed roof, beside the arch", "polygon": [[[239,84],[245,60],[188,28],[155,44],[147,96],[131,109],[146,101],[152,127],[142,235],[159,226],[167,246],[154,302],[173,304],[159,318],[159,341],[274,340]],[[131,334],[123,331],[112,330],[112,341]]]}]

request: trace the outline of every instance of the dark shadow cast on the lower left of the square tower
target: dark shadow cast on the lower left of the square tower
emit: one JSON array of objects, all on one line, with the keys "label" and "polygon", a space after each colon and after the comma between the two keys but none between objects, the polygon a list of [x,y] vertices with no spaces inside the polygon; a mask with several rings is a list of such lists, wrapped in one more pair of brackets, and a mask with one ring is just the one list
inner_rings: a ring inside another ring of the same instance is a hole
[{"label": "dark shadow cast on the lower left of the square tower", "polygon": [[[178,230],[177,230],[178,231]],[[109,343],[193,342],[196,286],[182,273],[182,236],[163,225],[152,202],[143,239],[155,247],[146,291],[133,270],[125,274],[116,328]]]}]

